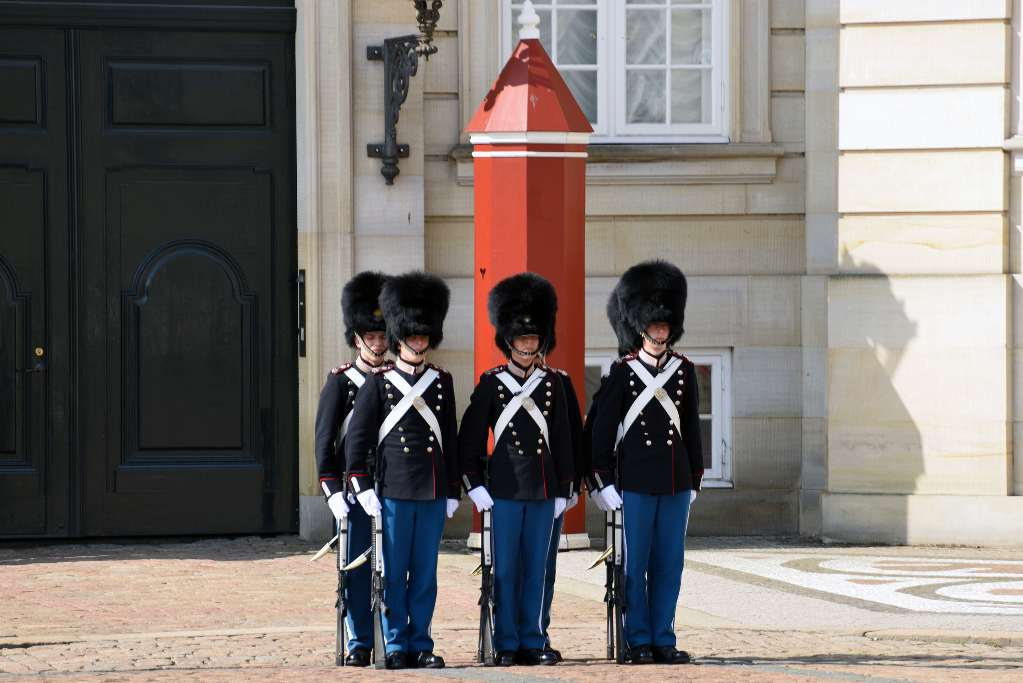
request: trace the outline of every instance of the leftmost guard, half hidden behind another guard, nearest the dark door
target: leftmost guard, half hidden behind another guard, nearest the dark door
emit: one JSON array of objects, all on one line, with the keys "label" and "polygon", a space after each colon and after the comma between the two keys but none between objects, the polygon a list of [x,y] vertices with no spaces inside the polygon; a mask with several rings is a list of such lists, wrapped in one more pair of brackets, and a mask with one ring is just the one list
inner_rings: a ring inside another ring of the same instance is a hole
[{"label": "leftmost guard, half hidden behind another guard, nearest the dark door", "polygon": [[[384,362],[387,354],[387,326],[381,312],[380,295],[387,275],[364,270],[345,285],[341,292],[341,312],[345,322],[345,341],[359,350],[355,362],[338,366],[326,376],[316,410],[316,467],[320,489],[337,519],[336,525],[348,524],[348,557],[355,557],[369,547],[369,517],[359,506],[349,510],[355,499],[345,492],[345,437],[352,405],[365,383],[366,376]],[[372,468],[370,459],[366,466]],[[346,519],[347,518],[347,519]],[[339,529],[340,530],[340,529]],[[345,538],[345,535],[339,535]],[[365,667],[373,642],[372,614],[369,610],[369,567],[348,571],[345,606],[348,614],[348,657],[345,665]]]}]

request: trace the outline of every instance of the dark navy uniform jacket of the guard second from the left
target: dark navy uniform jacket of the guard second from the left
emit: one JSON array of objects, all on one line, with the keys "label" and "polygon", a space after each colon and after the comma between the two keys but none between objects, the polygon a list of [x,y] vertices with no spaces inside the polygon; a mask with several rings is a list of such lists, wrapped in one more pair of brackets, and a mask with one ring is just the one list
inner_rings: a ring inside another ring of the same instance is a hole
[{"label": "dark navy uniform jacket of the guard second from the left", "polygon": [[431,364],[427,364],[427,368],[440,372],[422,393],[422,398],[437,416],[444,447],[441,449],[436,434],[414,408],[408,409],[377,447],[380,426],[390,414],[391,407],[397,405],[402,397],[401,391],[388,381],[384,373],[393,370],[410,386],[415,386],[422,378],[422,373],[409,375],[397,370],[393,362],[385,362],[366,377],[366,383],[359,390],[345,438],[349,485],[356,494],[372,487],[369,461],[375,456],[383,498],[407,501],[461,498],[454,386],[446,370]]}]

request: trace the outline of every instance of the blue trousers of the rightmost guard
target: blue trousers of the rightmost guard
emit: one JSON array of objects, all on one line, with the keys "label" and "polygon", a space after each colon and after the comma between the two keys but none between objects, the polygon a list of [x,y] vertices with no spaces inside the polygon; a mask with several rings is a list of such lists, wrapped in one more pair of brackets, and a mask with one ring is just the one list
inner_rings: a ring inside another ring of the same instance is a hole
[{"label": "blue trousers of the rightmost guard", "polygon": [[[628,646],[674,645],[690,492],[652,496],[627,490],[622,501]],[[656,552],[651,552],[652,546]]]}]

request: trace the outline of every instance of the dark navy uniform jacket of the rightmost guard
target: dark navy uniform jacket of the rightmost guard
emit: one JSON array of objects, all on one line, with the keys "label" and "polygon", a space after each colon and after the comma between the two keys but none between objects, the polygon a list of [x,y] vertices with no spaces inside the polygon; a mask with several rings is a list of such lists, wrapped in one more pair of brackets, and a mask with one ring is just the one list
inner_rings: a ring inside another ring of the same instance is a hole
[{"label": "dark navy uniform jacket of the rightmost guard", "polygon": [[[668,414],[656,398],[652,398],[618,446],[618,475],[622,490],[638,494],[700,490],[704,463],[696,367],[680,353],[668,353],[682,359],[682,365],[664,385],[668,395],[678,400],[682,433],[675,433]],[[602,482],[602,487],[614,483],[615,436],[618,425],[625,419],[636,394],[643,388],[642,382],[628,366],[628,361],[636,357],[630,353],[615,360],[596,404],[592,437],[593,474]],[[654,377],[663,372],[663,368],[647,364],[643,366]],[[682,393],[678,394],[677,391]]]}]

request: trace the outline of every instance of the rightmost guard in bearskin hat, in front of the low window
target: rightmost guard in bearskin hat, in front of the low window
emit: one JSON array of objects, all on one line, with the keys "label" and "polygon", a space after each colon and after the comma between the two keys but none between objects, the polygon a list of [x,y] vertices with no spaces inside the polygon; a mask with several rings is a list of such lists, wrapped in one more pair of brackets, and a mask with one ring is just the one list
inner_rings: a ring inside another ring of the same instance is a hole
[{"label": "rightmost guard in bearskin hat, in front of the low window", "polygon": [[675,604],[704,464],[696,369],[669,348],[682,336],[685,278],[671,263],[647,261],[626,270],[614,294],[640,348],[618,358],[605,382],[593,420],[593,478],[604,506],[622,508],[629,658],[686,664],[688,653],[675,648]]}]

